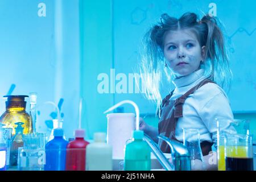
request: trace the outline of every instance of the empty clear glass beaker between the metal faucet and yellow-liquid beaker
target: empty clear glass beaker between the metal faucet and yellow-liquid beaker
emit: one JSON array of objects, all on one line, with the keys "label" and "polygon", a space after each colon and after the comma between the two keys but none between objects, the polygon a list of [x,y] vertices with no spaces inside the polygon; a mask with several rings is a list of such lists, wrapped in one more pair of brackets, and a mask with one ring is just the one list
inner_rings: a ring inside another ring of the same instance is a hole
[{"label": "empty clear glass beaker between the metal faucet and yellow-liquid beaker", "polygon": [[183,129],[183,145],[188,148],[191,154],[191,169],[205,170],[203,153],[200,147],[199,129]]}]

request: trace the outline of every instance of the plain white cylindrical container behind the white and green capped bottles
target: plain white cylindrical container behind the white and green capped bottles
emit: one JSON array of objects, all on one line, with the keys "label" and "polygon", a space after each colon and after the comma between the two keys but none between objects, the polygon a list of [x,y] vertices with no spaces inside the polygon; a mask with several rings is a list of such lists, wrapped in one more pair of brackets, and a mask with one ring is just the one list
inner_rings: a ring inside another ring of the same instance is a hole
[{"label": "plain white cylindrical container behind the white and green capped bottles", "polygon": [[135,114],[112,113],[107,115],[107,143],[113,147],[113,158],[125,158],[126,141],[133,137],[135,129]]}]

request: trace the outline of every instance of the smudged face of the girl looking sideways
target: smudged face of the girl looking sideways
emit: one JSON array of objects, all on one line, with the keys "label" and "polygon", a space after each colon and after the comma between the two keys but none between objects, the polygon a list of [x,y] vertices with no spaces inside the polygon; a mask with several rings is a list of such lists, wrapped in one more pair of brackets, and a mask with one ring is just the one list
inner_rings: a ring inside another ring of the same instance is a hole
[{"label": "smudged face of the girl looking sideways", "polygon": [[169,31],[164,36],[164,57],[175,77],[197,71],[204,56],[205,46],[200,47],[191,30]]}]

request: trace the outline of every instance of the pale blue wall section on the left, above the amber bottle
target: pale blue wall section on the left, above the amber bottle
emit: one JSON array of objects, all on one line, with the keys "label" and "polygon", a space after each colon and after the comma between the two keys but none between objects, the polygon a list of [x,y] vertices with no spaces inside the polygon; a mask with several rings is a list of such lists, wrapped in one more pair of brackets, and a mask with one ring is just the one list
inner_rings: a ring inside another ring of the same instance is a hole
[{"label": "pale blue wall section on the left, above the amber bottle", "polygon": [[[38,15],[39,3],[46,5],[46,16]],[[11,94],[38,93],[37,128],[47,133],[55,108],[44,102],[59,104],[63,98],[63,127],[72,137],[80,94],[79,1],[1,0],[0,19],[0,96],[12,84]],[[1,98],[1,113],[4,110]]]}]

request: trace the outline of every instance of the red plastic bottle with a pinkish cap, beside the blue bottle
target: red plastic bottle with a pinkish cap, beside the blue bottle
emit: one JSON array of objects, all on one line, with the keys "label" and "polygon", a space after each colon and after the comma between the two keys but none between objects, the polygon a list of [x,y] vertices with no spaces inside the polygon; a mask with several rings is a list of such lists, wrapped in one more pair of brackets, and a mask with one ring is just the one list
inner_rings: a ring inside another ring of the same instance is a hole
[{"label": "red plastic bottle with a pinkish cap, beside the blue bottle", "polygon": [[75,130],[75,140],[68,143],[66,156],[66,171],[85,171],[86,146],[85,130]]}]

